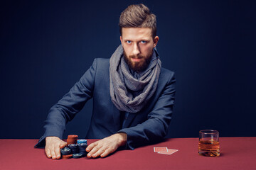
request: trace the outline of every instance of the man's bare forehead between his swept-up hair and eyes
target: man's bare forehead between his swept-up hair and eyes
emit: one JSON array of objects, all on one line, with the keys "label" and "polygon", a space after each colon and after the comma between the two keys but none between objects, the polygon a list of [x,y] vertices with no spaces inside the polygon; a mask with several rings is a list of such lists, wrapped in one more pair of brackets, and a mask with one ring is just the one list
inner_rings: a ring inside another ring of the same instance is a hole
[{"label": "man's bare forehead between his swept-up hair and eyes", "polygon": [[151,28],[122,28],[124,40],[150,40]]}]

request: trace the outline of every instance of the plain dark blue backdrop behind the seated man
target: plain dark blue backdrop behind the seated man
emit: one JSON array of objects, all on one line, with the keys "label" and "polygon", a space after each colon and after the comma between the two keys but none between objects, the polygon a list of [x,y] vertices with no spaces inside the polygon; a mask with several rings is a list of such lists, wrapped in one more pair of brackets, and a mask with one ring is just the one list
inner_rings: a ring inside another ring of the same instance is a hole
[{"label": "plain dark blue backdrop behind the seated man", "polygon": [[[119,14],[149,6],[163,67],[176,72],[168,137],[256,136],[256,5],[253,1],[2,1],[1,138],[39,138],[48,110],[95,57],[119,45]],[[68,123],[85,136],[92,101]]]}]

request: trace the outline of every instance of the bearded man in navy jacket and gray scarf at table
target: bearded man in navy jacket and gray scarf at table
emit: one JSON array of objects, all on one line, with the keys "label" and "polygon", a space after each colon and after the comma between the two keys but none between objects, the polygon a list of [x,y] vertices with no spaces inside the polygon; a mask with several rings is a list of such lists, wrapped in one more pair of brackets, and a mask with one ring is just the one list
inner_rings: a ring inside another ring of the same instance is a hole
[{"label": "bearded man in navy jacket and gray scarf at table", "polygon": [[[119,19],[120,40],[110,59],[95,59],[80,81],[50,108],[45,134],[48,158],[59,159],[65,124],[93,98],[86,138],[87,157],[107,157],[117,148],[159,142],[168,131],[174,106],[174,72],[161,68],[155,47],[156,16],[143,4],[128,6]],[[36,145],[36,147],[38,146]]]}]

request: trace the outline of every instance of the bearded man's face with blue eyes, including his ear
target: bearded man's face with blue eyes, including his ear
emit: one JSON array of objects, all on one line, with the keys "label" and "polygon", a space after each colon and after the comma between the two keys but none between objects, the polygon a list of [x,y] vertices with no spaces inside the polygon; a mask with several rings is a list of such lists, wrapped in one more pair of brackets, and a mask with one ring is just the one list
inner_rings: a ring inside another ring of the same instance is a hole
[{"label": "bearded man's face with blue eyes, including his ear", "polygon": [[129,68],[142,72],[151,61],[159,37],[152,38],[151,28],[122,28],[120,40],[124,48],[124,60]]}]

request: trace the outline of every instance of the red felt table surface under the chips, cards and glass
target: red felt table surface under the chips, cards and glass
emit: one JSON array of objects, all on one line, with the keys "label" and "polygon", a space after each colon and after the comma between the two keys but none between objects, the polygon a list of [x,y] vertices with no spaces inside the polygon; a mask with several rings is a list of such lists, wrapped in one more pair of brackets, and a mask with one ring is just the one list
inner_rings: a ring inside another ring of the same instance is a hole
[{"label": "red felt table surface under the chips, cards and glass", "polygon": [[[174,138],[106,158],[58,160],[48,159],[44,149],[34,148],[37,141],[0,140],[0,169],[256,169],[256,137],[220,137],[220,157],[198,155],[198,138]],[[178,152],[157,154],[154,147]]]}]

